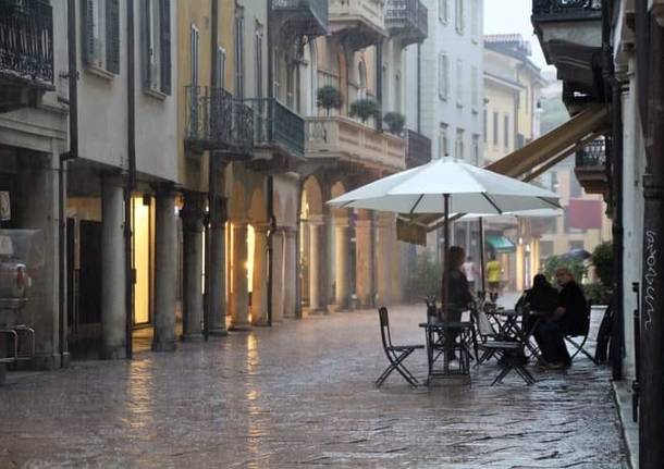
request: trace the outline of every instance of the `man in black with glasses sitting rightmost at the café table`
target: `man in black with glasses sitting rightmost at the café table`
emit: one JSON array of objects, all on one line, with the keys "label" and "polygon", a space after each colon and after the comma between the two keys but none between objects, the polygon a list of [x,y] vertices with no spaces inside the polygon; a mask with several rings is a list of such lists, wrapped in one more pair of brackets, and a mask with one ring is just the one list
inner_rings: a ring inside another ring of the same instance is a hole
[{"label": "man in black with glasses sitting rightmost at the caf\u00e9 table", "polygon": [[577,333],[585,326],[588,321],[588,305],[581,287],[576,283],[569,269],[556,270],[555,277],[561,287],[556,308],[534,331],[534,340],[540,347],[542,354],[540,362],[543,366],[565,369],[571,365],[565,346],[565,336]]}]

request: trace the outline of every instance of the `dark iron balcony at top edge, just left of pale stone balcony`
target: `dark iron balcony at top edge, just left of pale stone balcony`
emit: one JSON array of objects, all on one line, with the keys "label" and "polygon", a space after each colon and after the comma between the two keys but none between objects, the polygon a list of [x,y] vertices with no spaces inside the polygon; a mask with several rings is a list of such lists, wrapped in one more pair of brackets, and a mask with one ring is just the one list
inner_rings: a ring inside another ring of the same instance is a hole
[{"label": "dark iron balcony at top edge, just left of pale stone balcony", "polygon": [[327,0],[271,0],[271,18],[282,28],[307,36],[328,34]]}]

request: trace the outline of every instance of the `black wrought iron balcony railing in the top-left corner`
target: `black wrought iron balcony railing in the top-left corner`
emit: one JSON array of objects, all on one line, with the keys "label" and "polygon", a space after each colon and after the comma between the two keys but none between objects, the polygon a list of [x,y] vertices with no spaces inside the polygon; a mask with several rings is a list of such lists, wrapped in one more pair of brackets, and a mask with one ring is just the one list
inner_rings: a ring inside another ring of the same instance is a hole
[{"label": "black wrought iron balcony railing in the top-left corner", "polygon": [[53,10],[45,0],[0,0],[0,75],[53,83]]}]

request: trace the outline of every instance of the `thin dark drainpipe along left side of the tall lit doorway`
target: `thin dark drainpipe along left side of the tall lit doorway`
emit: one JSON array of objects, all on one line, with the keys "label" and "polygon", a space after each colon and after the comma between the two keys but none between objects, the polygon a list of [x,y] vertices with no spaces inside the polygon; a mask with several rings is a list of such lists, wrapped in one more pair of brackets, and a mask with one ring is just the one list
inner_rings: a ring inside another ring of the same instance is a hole
[{"label": "thin dark drainpipe along left side of the tall lit doorway", "polygon": [[135,271],[132,259],[132,192],[136,187],[136,84],[135,84],[135,51],[134,51],[134,0],[126,2],[127,17],[127,157],[130,173],[124,192],[124,254],[125,254],[125,347],[126,358],[132,359],[134,347],[132,330],[134,326],[134,281]]}]

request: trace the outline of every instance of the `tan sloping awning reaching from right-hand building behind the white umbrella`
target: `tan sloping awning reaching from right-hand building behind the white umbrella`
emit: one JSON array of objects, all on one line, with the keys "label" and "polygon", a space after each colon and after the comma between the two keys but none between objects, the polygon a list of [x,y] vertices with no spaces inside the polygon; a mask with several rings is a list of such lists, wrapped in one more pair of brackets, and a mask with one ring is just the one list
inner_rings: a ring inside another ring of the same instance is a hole
[{"label": "tan sloping awning reaching from right-hand building behind the white umbrella", "polygon": [[[485,169],[521,181],[532,181],[590,144],[605,132],[608,125],[611,123],[606,107],[591,106],[525,147],[490,163]],[[402,237],[397,232],[397,238],[407,243],[413,243],[413,239],[420,242],[426,239],[426,234],[415,234],[416,231],[430,232],[442,225],[440,214],[404,214],[401,220],[403,225],[401,233],[409,232],[409,236]],[[408,226],[408,230],[405,226]]]}]

